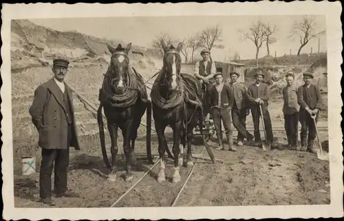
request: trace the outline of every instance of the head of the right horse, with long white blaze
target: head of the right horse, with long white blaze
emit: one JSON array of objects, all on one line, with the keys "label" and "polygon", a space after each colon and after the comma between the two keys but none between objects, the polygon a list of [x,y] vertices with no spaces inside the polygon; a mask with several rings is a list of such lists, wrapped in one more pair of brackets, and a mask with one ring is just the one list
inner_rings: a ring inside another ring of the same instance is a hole
[{"label": "head of the right horse, with long white blaze", "polygon": [[180,87],[180,68],[182,65],[182,59],[180,57],[182,43],[179,43],[177,48],[174,48],[173,45],[167,48],[164,41],[161,42],[161,45],[164,50],[164,61],[162,66],[165,73],[164,83],[169,88],[169,91],[178,90]]}]

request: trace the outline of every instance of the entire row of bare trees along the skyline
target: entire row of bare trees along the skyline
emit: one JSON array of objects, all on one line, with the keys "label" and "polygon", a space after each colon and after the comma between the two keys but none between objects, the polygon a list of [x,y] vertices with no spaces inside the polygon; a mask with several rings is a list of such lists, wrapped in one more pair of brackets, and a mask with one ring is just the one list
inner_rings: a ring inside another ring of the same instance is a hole
[{"label": "entire row of bare trees along the skyline", "polygon": [[[294,21],[292,31],[288,38],[292,40],[296,38],[299,39],[301,46],[297,55],[300,54],[301,49],[310,41],[310,39],[316,36],[316,34],[314,34],[314,25],[315,22],[313,17],[305,16],[301,21]],[[238,32],[241,34],[244,41],[250,40],[255,44],[255,59],[256,65],[258,66],[258,56],[261,47],[266,45],[267,55],[270,55],[270,45],[278,41],[277,34],[279,29],[276,25],[271,25],[270,23],[259,20],[256,23],[252,23],[247,30],[238,30]],[[214,27],[206,28],[195,35],[186,36],[182,40],[173,39],[166,33],[160,33],[159,36],[155,36],[152,46],[153,48],[160,50],[162,53],[162,41],[164,41],[166,45],[176,45],[182,41],[183,48],[181,52],[185,57],[185,63],[189,63],[189,61],[192,63],[195,59],[195,52],[200,48],[207,48],[208,50],[212,50],[213,48],[224,49],[222,37],[222,28],[215,25]],[[237,61],[239,57],[239,52],[235,52],[232,60]]]}]

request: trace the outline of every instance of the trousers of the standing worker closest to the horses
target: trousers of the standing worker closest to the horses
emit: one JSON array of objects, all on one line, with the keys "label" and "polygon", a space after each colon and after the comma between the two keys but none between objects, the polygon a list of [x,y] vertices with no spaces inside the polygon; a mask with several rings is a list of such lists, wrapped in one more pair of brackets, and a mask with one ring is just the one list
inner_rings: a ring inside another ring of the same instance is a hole
[{"label": "trousers of the standing worker closest to the horses", "polygon": [[[222,144],[222,131],[221,131],[221,120],[224,125],[227,136],[232,136],[232,129],[230,128],[231,119],[230,119],[230,109],[222,109],[213,107],[211,109],[211,114],[213,115],[214,127],[217,134],[217,140],[219,144]],[[230,140],[228,140],[230,142]]]}]

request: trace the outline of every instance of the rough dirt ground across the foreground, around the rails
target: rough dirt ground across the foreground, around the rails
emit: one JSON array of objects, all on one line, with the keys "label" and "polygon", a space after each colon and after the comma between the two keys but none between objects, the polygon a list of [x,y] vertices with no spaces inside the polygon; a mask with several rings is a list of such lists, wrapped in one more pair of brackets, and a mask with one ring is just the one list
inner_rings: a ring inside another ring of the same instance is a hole
[{"label": "rough dirt ground across the foreground, around the rails", "polygon": [[[214,144],[210,142],[211,146]],[[156,143],[152,145],[153,154],[158,154]],[[203,147],[193,145],[193,153],[199,154]],[[328,162],[319,160],[314,154],[288,149],[268,152],[258,147],[237,149],[237,152],[213,151],[223,163],[213,165],[207,160],[197,160],[175,206],[330,204]],[[69,189],[80,193],[81,197],[54,198],[55,207],[111,207],[151,167],[147,160],[140,158],[145,154],[144,139],[138,139],[136,154],[139,155],[139,163],[133,167],[134,179],[125,182],[122,178],[125,171],[122,155],[119,154],[117,179],[111,182],[105,176],[107,169],[100,147],[88,149],[87,152],[72,151]],[[205,150],[202,154],[207,156]],[[159,164],[116,207],[171,206],[191,168],[181,169],[182,181],[177,184],[171,182],[171,159],[166,160],[166,182],[163,184],[156,181],[158,171]],[[36,202],[39,199],[38,172],[28,177],[16,176],[14,194],[16,207],[47,207]]]}]

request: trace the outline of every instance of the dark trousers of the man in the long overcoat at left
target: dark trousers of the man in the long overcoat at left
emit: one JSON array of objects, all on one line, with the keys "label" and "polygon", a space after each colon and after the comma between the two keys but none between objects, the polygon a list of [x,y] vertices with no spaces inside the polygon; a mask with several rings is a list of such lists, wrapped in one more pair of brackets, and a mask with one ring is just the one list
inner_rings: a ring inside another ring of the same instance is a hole
[{"label": "dark trousers of the man in the long overcoat at left", "polygon": [[[71,140],[71,127],[68,127],[68,144]],[[54,191],[56,194],[67,191],[67,167],[69,165],[69,147],[67,149],[42,149],[41,170],[39,172],[40,198],[52,197],[52,170],[54,168]]]}]

